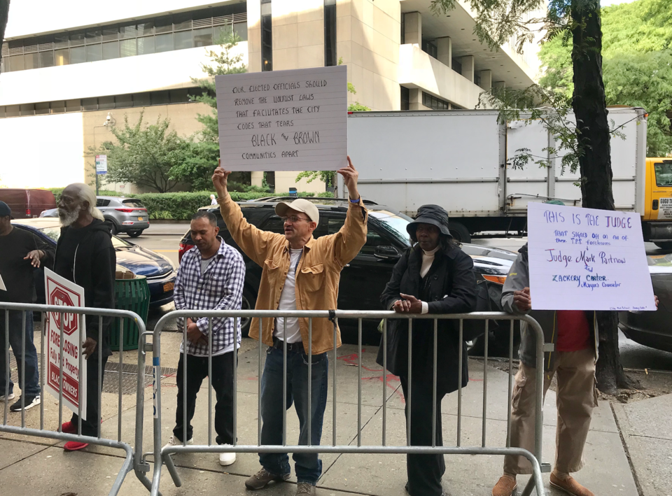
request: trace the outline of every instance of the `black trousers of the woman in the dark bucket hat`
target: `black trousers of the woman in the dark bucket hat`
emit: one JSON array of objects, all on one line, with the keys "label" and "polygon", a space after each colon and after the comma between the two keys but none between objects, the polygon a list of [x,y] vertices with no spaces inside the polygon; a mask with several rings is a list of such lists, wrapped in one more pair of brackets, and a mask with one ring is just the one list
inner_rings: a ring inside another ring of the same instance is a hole
[{"label": "black trousers of the woman in the dark bucket hat", "polygon": [[[408,417],[408,377],[400,376]],[[432,386],[431,377],[413,375],[411,388],[411,446],[432,446]],[[441,429],[441,400],[436,395],[436,446],[443,446]],[[406,455],[408,493],[411,496],[441,496],[441,477],[446,472],[443,455]]]}]

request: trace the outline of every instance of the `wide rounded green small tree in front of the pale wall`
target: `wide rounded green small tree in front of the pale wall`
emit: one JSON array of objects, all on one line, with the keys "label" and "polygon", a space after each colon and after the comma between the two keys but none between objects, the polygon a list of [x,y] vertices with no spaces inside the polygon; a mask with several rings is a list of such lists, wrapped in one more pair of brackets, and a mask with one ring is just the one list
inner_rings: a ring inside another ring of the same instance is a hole
[{"label": "wide rounded green small tree in front of the pale wall", "polygon": [[107,155],[106,183],[132,183],[165,193],[178,184],[172,169],[190,155],[190,143],[168,130],[169,119],[158,118],[156,124],[143,126],[143,117],[140,113],[132,126],[124,115],[122,128],[110,128],[118,143],[106,141],[90,152]]}]

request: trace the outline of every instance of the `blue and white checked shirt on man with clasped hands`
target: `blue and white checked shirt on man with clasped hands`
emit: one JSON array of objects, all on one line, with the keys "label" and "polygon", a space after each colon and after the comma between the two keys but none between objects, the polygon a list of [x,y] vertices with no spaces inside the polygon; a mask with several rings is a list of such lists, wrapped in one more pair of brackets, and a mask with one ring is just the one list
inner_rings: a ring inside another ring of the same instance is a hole
[{"label": "blue and white checked shirt on man with clasped hands", "polygon": [[[242,255],[221,238],[221,246],[212,257],[206,271],[201,274],[201,252],[191,248],[182,257],[175,278],[174,302],[178,310],[240,310],[245,282],[245,264]],[[182,318],[178,327],[186,332]],[[240,345],[240,319],[235,327],[234,318],[212,318],[212,335],[207,317],[191,318],[199,330],[212,341],[212,354],[223,352],[225,348],[237,343]],[[184,343],[180,353],[184,353]],[[189,355],[208,356],[207,344],[193,344],[187,340]]]}]

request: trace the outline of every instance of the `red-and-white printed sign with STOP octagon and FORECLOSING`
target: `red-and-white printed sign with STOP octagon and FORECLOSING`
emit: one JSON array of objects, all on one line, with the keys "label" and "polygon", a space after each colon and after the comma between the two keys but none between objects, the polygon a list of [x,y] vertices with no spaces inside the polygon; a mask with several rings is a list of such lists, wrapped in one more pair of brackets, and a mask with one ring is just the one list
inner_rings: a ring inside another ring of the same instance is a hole
[{"label": "red-and-white printed sign with STOP octagon and FORECLOSING", "polygon": [[[84,288],[71,283],[49,269],[44,269],[44,287],[48,305],[84,306]],[[86,420],[86,365],[82,357],[81,384],[79,381],[79,357],[82,353],[83,336],[86,336],[85,319],[76,313],[63,313],[63,404],[74,413],[82,405],[82,420]],[[50,312],[47,336],[49,361],[45,390],[57,399],[61,374],[60,358],[61,316]]]}]

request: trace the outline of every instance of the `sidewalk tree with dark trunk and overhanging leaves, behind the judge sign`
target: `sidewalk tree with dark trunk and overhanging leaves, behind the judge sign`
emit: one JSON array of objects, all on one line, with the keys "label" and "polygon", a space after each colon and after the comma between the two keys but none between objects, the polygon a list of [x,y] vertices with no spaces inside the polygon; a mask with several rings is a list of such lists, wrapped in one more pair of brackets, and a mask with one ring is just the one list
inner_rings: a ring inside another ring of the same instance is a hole
[{"label": "sidewalk tree with dark trunk and overhanging leaves, behind the judge sign", "polygon": [[[447,13],[456,0],[431,0],[435,14]],[[610,132],[602,78],[602,30],[599,0],[466,0],[475,13],[474,32],[491,50],[499,50],[511,39],[517,51],[534,41],[538,27],[545,38],[562,36],[571,46],[574,89],[570,103],[576,125],[559,117],[552,122],[557,139],[574,146],[574,164],[580,171],[582,205],[585,208],[614,210]],[[507,90],[505,105],[533,107],[535,97],[544,94],[538,87],[519,92]],[[566,108],[563,94],[547,94],[547,101],[559,101]],[[500,107],[501,108],[501,107]],[[510,108],[504,108],[507,111]],[[617,314],[598,312],[600,360],[598,385],[605,392],[629,387],[620,364]]]}]

